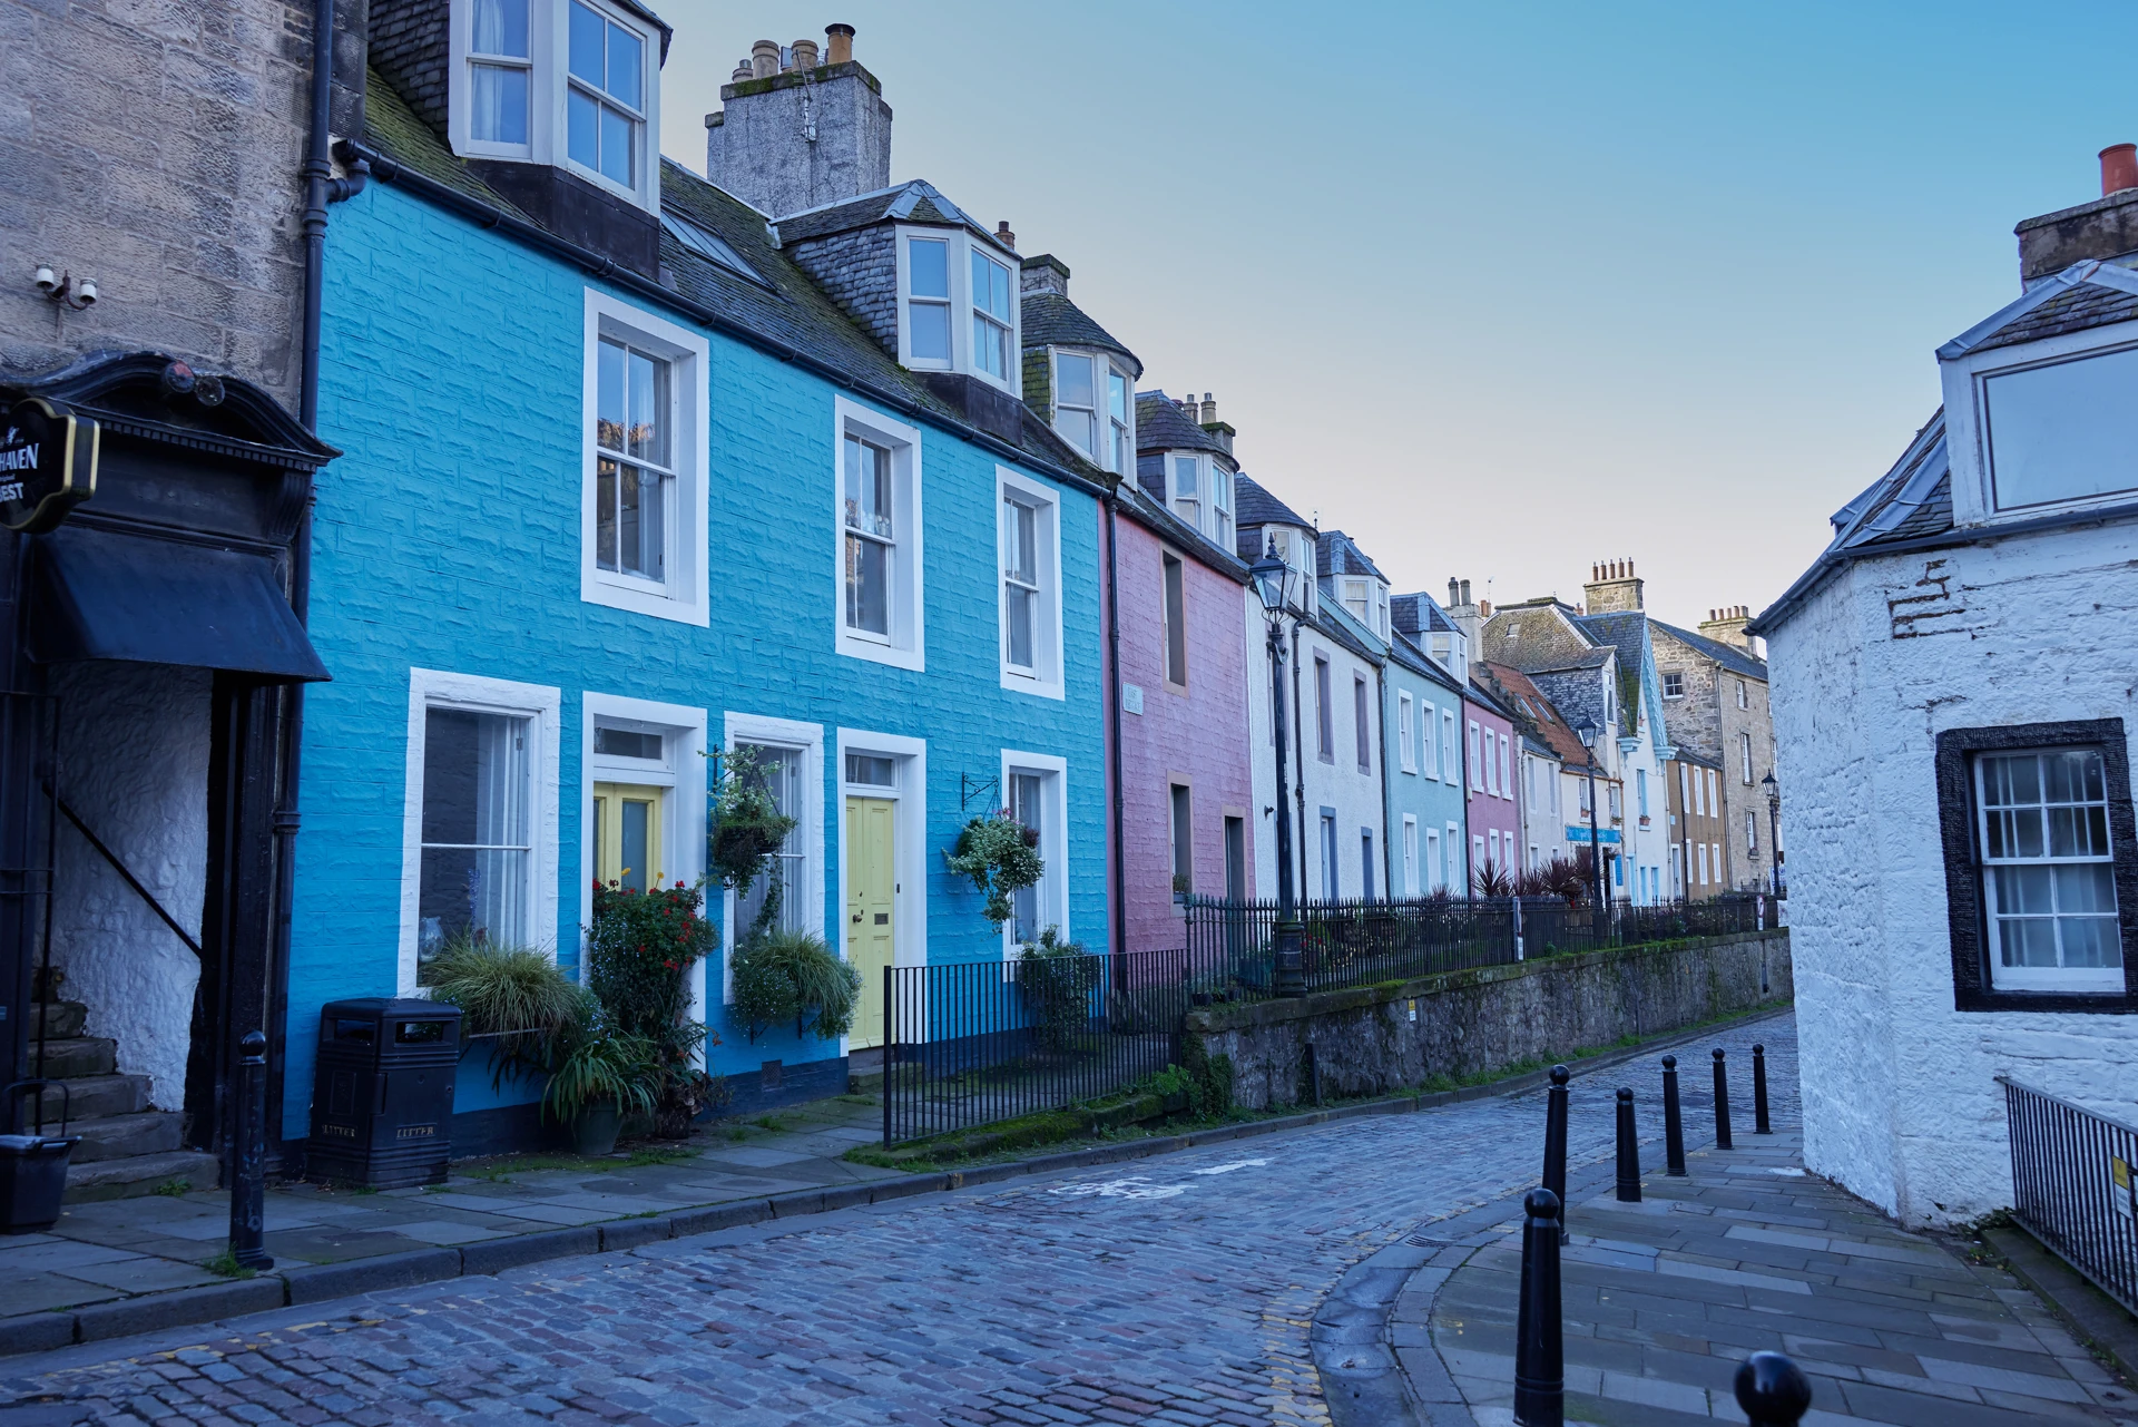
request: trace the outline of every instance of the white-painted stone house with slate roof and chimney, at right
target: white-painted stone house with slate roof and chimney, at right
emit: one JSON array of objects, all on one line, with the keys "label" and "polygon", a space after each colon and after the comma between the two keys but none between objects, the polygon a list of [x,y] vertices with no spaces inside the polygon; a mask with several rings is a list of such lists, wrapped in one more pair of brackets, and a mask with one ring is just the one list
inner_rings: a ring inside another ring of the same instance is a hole
[{"label": "white-painted stone house with slate roof and chimney, at right", "polygon": [[2114,154],[2106,197],[2018,227],[2025,295],[1937,349],[1943,409],[1753,625],[1804,1157],[1907,1224],[2012,1202],[1997,1076],[2138,1119],[2138,167]]}]

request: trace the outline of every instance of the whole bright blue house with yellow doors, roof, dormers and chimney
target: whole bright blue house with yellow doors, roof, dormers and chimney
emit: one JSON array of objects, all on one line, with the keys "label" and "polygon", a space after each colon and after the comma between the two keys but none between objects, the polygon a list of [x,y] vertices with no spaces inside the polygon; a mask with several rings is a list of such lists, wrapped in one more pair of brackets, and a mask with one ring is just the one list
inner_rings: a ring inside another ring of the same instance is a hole
[{"label": "whole bright blue house with yellow doors, roof, dormers and chimney", "polygon": [[[712,894],[695,995],[738,1110],[845,1089],[885,965],[1013,950],[943,862],[973,813],[1039,830],[1018,920],[1103,950],[1103,486],[1022,400],[1009,235],[887,182],[853,32],[723,88],[727,190],[659,158],[667,28],[631,0],[374,0],[370,41],[338,160],[372,182],[327,255],[334,682],[304,727],[284,1136],[323,1001],[413,993],[468,931],[575,967],[597,879],[695,881],[721,749],[755,747],[797,819],[780,920],[866,978],[849,1038],[753,1042],[729,961],[763,892]],[[534,1130],[479,1061],[455,1153]]]}]

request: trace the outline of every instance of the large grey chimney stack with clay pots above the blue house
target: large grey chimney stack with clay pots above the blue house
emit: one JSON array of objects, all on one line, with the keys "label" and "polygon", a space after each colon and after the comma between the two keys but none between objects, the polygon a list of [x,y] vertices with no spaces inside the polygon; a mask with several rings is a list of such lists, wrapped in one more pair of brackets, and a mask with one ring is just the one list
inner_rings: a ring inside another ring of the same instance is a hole
[{"label": "large grey chimney stack with clay pots above the blue house", "polygon": [[774,218],[892,186],[892,107],[853,62],[853,26],[823,34],[823,64],[815,41],[787,66],[776,43],[750,45],[706,116],[706,178]]}]

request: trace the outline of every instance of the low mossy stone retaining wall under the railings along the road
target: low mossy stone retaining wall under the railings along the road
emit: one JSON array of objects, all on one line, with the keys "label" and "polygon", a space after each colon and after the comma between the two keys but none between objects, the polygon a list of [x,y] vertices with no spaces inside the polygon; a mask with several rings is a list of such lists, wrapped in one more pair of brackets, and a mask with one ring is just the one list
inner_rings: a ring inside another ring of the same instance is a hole
[{"label": "low mossy stone retaining wall under the railings along the road", "polygon": [[1231,1057],[1234,1102],[1264,1110],[1306,1095],[1308,1042],[1323,1095],[1379,1095],[1700,1025],[1794,991],[1790,933],[1775,931],[1217,1006],[1193,1012],[1189,1033]]}]

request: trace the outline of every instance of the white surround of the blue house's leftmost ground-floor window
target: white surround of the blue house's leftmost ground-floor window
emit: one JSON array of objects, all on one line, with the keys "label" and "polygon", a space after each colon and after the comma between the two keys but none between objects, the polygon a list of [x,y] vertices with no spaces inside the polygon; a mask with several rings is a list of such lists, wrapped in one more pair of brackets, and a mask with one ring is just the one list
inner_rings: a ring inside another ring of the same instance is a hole
[{"label": "white surround of the blue house's leftmost ground-floor window", "polygon": [[[423,888],[423,747],[432,708],[494,712],[528,719],[528,941],[558,954],[556,849],[558,849],[558,730],[564,691],[449,670],[408,670],[408,745],[402,787],[402,896],[396,986],[417,995],[417,935]],[[592,886],[592,884],[588,884]]]}]

